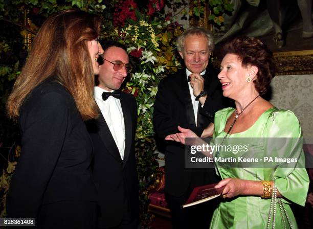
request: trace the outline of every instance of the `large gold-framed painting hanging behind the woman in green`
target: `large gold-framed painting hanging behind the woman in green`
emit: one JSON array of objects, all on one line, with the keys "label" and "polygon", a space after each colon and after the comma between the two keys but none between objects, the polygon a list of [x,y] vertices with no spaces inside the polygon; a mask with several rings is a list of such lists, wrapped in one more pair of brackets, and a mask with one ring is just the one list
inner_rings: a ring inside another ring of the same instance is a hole
[{"label": "large gold-framed painting hanging behind the woman in green", "polygon": [[[189,10],[194,3],[189,1]],[[212,31],[217,56],[219,47],[229,38],[258,37],[273,51],[277,75],[313,74],[312,0],[232,0],[231,3],[233,12],[222,15],[221,27],[210,25],[207,18],[212,9],[208,4],[203,18],[190,20],[191,26]]]}]

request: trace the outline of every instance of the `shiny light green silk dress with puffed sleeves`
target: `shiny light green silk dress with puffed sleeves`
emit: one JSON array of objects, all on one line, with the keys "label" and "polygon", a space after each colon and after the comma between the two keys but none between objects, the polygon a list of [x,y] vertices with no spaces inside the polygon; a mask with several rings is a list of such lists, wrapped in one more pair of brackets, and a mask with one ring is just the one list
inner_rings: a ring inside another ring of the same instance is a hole
[{"label": "shiny light green silk dress with puffed sleeves", "polygon": [[[234,108],[225,108],[215,114],[214,138],[224,138],[227,119]],[[270,108],[261,114],[259,119],[247,130],[229,135],[228,138],[299,138],[302,137],[301,127],[295,114],[289,110]],[[214,139],[213,138],[213,139]],[[266,146],[256,147],[264,156],[270,150]],[[298,156],[298,163],[304,163],[304,153],[301,144],[291,147],[293,152],[285,152],[288,158],[291,153]],[[283,151],[284,152],[284,151]],[[296,219],[290,203],[305,204],[309,178],[304,167],[302,168],[222,168],[215,164],[217,174],[221,179],[239,178],[247,180],[275,180],[293,228],[297,228]],[[215,210],[210,228],[266,228],[270,210],[270,198],[260,196],[237,196],[226,198],[220,202]],[[288,223],[286,222],[288,227]],[[270,228],[272,227],[272,223]],[[275,228],[283,228],[283,221],[276,204]]]}]

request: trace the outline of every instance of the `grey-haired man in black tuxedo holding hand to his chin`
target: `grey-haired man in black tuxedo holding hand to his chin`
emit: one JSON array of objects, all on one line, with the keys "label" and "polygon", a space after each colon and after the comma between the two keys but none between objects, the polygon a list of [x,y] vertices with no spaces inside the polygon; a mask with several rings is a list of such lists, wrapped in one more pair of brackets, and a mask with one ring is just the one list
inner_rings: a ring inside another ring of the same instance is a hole
[{"label": "grey-haired man in black tuxedo holding hand to his chin", "polygon": [[[213,48],[212,35],[201,28],[189,28],[178,37],[177,50],[186,68],[159,84],[153,113],[159,138],[179,132],[178,125],[205,136],[204,129],[214,122],[222,103],[221,85],[209,66]],[[165,194],[173,228],[208,228],[214,201],[186,209],[182,205],[194,187],[218,181],[214,169],[185,169],[184,145],[173,141],[165,142],[165,164]]]}]

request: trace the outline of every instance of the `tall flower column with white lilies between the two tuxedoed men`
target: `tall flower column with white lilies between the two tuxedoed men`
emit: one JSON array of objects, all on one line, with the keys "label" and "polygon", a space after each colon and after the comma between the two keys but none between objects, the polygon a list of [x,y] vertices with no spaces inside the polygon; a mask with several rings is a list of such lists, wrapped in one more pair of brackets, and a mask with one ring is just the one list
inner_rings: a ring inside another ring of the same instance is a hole
[{"label": "tall flower column with white lilies between the two tuxedoed men", "polygon": [[158,167],[152,124],[154,99],[160,79],[180,67],[173,47],[175,38],[183,32],[181,26],[161,14],[159,17],[152,16],[164,7],[161,1],[153,1],[155,8],[149,8],[152,7],[149,4],[144,13],[133,0],[120,1],[113,14],[114,29],[103,33],[104,37],[118,40],[128,47],[130,61],[134,66],[124,91],[135,96],[138,104],[136,158],[140,179],[141,221],[144,226],[150,219],[147,214],[147,192],[155,181],[155,170]]}]

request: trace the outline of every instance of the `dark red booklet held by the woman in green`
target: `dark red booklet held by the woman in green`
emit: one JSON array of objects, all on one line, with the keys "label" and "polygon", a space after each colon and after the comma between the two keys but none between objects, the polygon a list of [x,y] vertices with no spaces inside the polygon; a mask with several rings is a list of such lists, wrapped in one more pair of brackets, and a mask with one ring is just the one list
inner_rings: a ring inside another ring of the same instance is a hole
[{"label": "dark red booklet held by the woman in green", "polygon": [[183,208],[203,203],[220,196],[225,186],[215,189],[214,186],[216,185],[217,184],[210,184],[194,188],[187,202],[183,205]]}]

